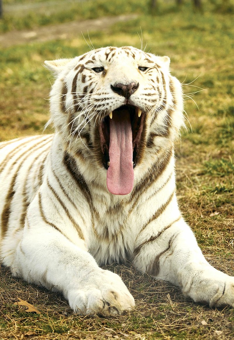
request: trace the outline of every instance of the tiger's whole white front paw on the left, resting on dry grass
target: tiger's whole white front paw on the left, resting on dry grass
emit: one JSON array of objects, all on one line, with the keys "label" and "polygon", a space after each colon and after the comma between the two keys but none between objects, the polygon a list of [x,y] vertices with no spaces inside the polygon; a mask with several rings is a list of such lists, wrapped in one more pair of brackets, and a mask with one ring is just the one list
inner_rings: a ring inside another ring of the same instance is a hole
[{"label": "tiger's whole white front paw on the left, resting on dry grass", "polygon": [[135,308],[135,302],[119,275],[108,270],[99,272],[99,277],[82,289],[68,293],[70,307],[81,315],[121,315]]}]

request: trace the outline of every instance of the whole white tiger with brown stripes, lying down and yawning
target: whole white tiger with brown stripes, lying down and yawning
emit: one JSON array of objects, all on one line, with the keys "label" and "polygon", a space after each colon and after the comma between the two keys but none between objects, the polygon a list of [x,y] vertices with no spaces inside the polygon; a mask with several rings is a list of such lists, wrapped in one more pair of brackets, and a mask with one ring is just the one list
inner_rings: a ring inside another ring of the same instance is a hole
[{"label": "whole white tiger with brown stripes, lying down and yawning", "polygon": [[195,302],[234,306],[234,277],[209,265],[178,208],[183,95],[169,64],[134,47],[46,61],[55,134],[0,144],[0,260],[75,313],[135,308],[99,267],[126,258]]}]

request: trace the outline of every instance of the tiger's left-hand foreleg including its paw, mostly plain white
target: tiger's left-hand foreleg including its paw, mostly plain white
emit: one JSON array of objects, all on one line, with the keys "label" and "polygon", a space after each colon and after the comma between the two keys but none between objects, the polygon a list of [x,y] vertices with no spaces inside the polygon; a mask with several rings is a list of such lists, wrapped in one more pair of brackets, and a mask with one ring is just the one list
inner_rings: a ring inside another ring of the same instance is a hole
[{"label": "tiger's left-hand foreleg including its paw, mostly plain white", "polygon": [[[120,276],[99,268],[84,240],[77,238],[74,244],[59,230],[58,223],[49,223],[45,216],[43,221],[37,215],[40,208],[34,204],[36,199],[29,208],[11,265],[13,273],[62,292],[78,314],[121,314],[134,308],[134,299]],[[68,229],[69,225],[65,230]]]}]

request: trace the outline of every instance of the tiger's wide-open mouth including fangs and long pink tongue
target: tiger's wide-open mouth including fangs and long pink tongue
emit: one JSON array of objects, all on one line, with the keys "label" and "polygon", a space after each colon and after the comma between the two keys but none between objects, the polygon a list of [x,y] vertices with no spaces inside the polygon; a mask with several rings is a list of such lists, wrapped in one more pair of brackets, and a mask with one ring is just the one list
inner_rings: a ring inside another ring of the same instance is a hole
[{"label": "tiger's wide-open mouth including fangs and long pink tongue", "polygon": [[107,188],[113,194],[126,195],[133,188],[143,126],[144,113],[138,107],[123,105],[98,127]]}]

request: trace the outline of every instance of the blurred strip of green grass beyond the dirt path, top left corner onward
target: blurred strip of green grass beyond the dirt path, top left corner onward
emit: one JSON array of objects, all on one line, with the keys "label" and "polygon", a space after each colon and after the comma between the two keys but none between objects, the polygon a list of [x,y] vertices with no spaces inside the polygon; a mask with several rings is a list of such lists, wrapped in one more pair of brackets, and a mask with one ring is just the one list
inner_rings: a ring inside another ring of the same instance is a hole
[{"label": "blurred strip of green grass beyond the dirt path, top left corner onward", "polygon": [[[17,1],[20,4],[22,1]],[[24,4],[27,2],[23,2]],[[30,5],[30,2],[28,2]],[[80,21],[85,19],[96,19],[103,16],[115,16],[123,13],[135,12],[142,13],[145,11],[147,3],[144,0],[85,0],[81,2],[63,2],[60,1],[54,6],[41,4],[41,8],[36,10],[30,7],[28,10],[18,10],[7,12],[0,20],[0,32],[11,30],[35,29],[36,27],[49,24],[63,23],[72,20]]]}]

